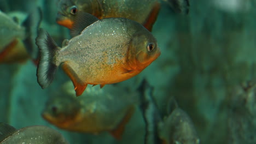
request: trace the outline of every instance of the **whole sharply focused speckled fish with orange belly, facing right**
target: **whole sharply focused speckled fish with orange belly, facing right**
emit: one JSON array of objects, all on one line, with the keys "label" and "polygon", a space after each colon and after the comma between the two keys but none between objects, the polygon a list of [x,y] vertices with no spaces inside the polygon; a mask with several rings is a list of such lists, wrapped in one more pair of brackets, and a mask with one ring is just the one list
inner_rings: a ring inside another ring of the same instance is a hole
[{"label": "whole sharply focused speckled fish with orange belly, facing right", "polygon": [[36,39],[40,50],[37,80],[42,88],[53,81],[59,65],[71,78],[79,96],[88,84],[103,87],[130,79],[160,56],[152,33],[136,21],[98,20],[88,13],[79,17],[71,31],[76,36],[64,40],[62,48],[40,29]]}]

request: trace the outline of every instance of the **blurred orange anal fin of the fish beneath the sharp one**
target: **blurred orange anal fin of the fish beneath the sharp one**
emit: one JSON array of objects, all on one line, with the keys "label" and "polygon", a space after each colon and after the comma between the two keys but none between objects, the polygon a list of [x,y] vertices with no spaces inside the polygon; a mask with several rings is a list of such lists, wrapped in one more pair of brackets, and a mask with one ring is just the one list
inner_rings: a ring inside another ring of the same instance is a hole
[{"label": "blurred orange anal fin of the fish beneath the sharp one", "polygon": [[118,127],[112,131],[109,131],[109,133],[113,137],[115,137],[115,139],[117,139],[117,140],[121,139],[121,137],[124,133],[124,130],[125,130],[125,124],[127,124],[130,121],[134,111],[135,111],[135,107],[131,106],[130,109],[127,110],[127,113],[124,116],[124,118],[122,119],[122,121],[118,124]]}]

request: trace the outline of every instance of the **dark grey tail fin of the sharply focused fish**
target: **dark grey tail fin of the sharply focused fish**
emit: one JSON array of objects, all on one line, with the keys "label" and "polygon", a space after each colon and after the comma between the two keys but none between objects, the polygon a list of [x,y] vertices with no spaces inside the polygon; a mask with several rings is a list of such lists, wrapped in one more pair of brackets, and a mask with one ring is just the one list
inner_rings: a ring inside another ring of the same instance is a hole
[{"label": "dark grey tail fin of the sharply focused fish", "polygon": [[57,66],[54,63],[54,55],[57,44],[44,29],[39,29],[36,44],[39,48],[39,64],[37,67],[37,82],[42,88],[46,88],[53,81]]}]

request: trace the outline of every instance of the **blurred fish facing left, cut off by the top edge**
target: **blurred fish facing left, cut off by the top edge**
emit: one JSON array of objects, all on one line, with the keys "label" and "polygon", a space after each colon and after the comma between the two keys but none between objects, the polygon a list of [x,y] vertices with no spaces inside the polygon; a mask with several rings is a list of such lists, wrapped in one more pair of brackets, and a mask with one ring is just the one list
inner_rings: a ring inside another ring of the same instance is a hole
[{"label": "blurred fish facing left, cut off by the top edge", "polygon": [[84,11],[98,19],[125,17],[151,31],[160,9],[159,0],[59,0],[58,5],[56,21],[69,29],[73,26],[75,15]]}]

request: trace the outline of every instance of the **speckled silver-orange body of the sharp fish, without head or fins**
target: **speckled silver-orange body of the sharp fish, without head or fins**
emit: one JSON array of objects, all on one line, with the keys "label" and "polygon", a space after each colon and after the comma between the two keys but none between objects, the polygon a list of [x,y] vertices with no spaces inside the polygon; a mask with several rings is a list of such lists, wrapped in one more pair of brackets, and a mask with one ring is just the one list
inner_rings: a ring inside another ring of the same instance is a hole
[{"label": "speckled silver-orange body of the sharp fish, without head or fins", "polygon": [[[143,68],[133,68],[129,65],[132,61],[126,58],[133,34],[141,27],[132,28],[133,23],[127,22],[127,19],[95,22],[68,41],[68,45],[57,53],[56,63],[66,62],[77,71],[81,81],[91,85],[116,83],[138,74]],[[130,71],[133,73],[127,73]]]}]

